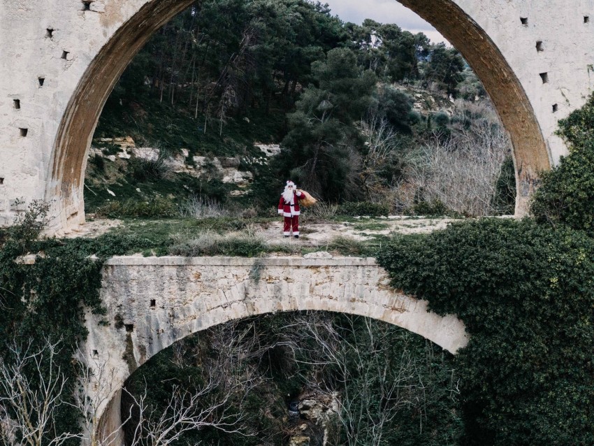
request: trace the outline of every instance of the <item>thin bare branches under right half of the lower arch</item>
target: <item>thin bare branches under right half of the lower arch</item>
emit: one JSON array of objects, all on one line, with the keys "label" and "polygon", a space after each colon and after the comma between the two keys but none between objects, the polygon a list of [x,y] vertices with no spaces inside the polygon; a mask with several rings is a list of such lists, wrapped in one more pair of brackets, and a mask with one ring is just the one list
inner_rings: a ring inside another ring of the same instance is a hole
[{"label": "thin bare branches under right half of the lower arch", "polygon": [[[422,432],[430,389],[423,377],[422,358],[410,348],[411,334],[400,334],[400,357],[387,361],[394,339],[389,326],[369,318],[348,316],[346,320],[347,326],[339,331],[333,317],[316,313],[300,315],[285,327],[287,333],[295,333],[289,335],[292,339],[288,343],[296,349],[295,360],[314,366],[314,374],[304,377],[308,386],[326,394],[326,401],[334,401],[331,396],[338,394],[335,419],[342,436],[332,438],[333,444],[382,445],[405,408],[421,414]],[[363,324],[363,332],[355,328],[356,321]],[[291,326],[298,327],[298,331],[290,330]],[[328,368],[333,369],[335,381],[319,382],[320,372]],[[457,384],[453,382],[449,391],[457,395]]]}]

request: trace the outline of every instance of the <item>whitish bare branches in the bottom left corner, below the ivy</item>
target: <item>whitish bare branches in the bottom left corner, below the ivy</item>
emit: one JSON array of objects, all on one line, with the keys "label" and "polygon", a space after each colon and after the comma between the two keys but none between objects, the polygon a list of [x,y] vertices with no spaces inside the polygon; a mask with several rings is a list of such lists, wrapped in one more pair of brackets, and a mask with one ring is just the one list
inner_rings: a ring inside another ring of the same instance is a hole
[{"label": "whitish bare branches in the bottom left corner, below the ivy", "polygon": [[[10,363],[0,359],[0,438],[3,445],[60,446],[79,433],[57,433],[55,419],[64,398],[66,377],[57,365],[60,341],[32,340],[8,345]],[[15,438],[20,438],[15,441]]]}]

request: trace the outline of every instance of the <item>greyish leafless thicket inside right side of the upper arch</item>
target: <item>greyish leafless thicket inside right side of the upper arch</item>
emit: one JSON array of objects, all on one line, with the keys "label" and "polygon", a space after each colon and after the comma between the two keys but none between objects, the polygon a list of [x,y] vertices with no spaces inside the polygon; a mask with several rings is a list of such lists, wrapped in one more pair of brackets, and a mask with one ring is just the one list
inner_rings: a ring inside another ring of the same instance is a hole
[{"label": "greyish leafless thicket inside right side of the upper arch", "polygon": [[450,136],[433,136],[408,160],[407,181],[399,199],[441,201],[464,215],[493,215],[493,199],[505,157],[512,145],[493,110],[458,103],[455,117],[470,126],[454,127]]}]

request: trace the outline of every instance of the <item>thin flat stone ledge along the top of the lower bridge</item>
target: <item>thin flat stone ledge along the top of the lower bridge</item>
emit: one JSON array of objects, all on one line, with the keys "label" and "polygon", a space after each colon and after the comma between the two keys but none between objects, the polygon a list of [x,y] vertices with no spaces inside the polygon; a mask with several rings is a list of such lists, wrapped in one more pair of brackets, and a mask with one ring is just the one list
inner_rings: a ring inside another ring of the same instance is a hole
[{"label": "thin flat stone ledge along the top of the lower bridge", "polygon": [[304,259],[303,257],[137,257],[116,256],[106,266],[377,266],[373,257],[334,257],[333,259]]}]

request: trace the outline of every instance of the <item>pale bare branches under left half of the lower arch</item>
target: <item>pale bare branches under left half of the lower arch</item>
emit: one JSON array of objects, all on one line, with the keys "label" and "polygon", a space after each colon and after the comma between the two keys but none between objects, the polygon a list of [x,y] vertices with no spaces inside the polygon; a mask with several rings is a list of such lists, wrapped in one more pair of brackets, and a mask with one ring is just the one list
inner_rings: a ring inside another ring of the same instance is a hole
[{"label": "pale bare branches under left half of the lower arch", "polygon": [[[254,324],[239,322],[215,326],[198,336],[207,336],[216,352],[201,361],[205,375],[210,377],[206,384],[193,391],[175,385],[171,397],[159,407],[149,403],[146,389],[140,395],[124,389],[131,403],[130,446],[168,446],[188,431],[206,428],[252,435],[245,424],[243,400],[263,377],[247,360],[261,357],[266,345],[261,344]],[[183,340],[173,345],[173,352],[176,366],[196,366]]]}]

